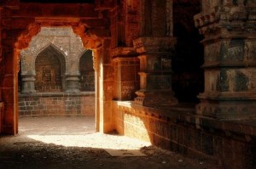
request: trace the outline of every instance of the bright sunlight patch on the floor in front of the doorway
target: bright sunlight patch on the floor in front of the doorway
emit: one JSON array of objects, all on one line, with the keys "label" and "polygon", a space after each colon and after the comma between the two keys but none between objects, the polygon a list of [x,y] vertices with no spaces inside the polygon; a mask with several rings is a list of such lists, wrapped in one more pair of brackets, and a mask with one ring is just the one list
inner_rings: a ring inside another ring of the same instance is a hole
[{"label": "bright sunlight patch on the floor in front of the doorway", "polygon": [[45,144],[96,149],[140,149],[144,146],[151,145],[148,142],[134,138],[102,134],[99,132],[86,135],[27,135],[27,137]]}]

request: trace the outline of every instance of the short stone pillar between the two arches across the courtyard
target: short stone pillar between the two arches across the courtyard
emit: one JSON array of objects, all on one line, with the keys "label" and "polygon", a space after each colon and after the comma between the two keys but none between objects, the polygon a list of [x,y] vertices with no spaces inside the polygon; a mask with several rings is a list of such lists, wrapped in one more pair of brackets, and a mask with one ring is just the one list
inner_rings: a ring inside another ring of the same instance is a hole
[{"label": "short stone pillar between the two arches across the courtyard", "polygon": [[76,74],[66,74],[66,92],[79,93],[79,72]]}]

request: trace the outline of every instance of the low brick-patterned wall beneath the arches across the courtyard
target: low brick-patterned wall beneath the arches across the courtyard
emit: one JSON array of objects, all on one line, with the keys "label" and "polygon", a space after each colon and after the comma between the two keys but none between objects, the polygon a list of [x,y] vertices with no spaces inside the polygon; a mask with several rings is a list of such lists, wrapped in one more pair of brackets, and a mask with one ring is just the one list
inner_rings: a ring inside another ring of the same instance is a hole
[{"label": "low brick-patterned wall beneath the arches across the courtyard", "polygon": [[20,116],[95,115],[95,93],[19,94]]}]

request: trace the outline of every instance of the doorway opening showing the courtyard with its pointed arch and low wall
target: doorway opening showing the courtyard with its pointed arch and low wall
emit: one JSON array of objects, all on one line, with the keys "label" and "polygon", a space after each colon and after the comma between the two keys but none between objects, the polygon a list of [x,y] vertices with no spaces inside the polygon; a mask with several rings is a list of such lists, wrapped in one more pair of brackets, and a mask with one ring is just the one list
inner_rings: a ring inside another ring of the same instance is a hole
[{"label": "doorway opening showing the courtyard with its pointed arch and low wall", "polygon": [[[19,131],[96,132],[92,64],[92,51],[71,27],[42,27],[20,52]],[[90,84],[82,87],[81,79]]]}]

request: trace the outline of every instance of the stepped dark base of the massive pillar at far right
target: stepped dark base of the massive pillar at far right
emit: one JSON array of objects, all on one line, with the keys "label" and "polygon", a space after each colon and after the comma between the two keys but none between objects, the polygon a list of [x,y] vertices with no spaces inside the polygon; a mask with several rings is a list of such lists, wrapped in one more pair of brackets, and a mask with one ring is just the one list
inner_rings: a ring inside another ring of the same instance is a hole
[{"label": "stepped dark base of the massive pillar at far right", "polygon": [[201,93],[198,97],[201,103],[196,105],[196,114],[223,120],[256,118],[256,98],[248,95],[233,93],[210,96]]}]

